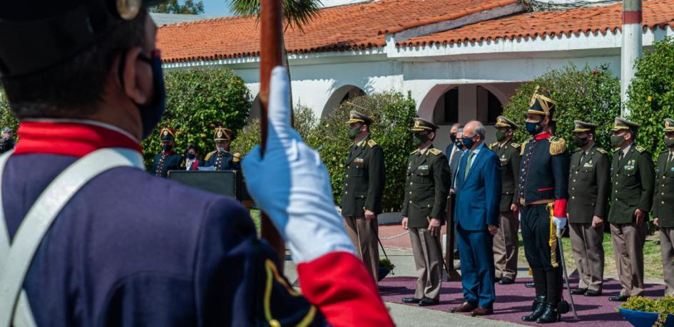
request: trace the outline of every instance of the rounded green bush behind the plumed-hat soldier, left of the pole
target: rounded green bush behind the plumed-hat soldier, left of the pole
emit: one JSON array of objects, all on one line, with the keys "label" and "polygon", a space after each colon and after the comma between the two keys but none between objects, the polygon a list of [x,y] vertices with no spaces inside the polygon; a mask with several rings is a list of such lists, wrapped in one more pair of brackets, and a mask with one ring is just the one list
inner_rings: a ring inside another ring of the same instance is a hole
[{"label": "rounded green bush behind the plumed-hat soldier, left of the pole", "polygon": [[[608,72],[606,66],[593,69],[568,66],[547,71],[522,84],[504,108],[504,115],[522,127],[536,85],[550,90],[551,98],[557,102],[553,114],[557,120],[556,136],[566,139],[573,149],[573,120],[583,120],[599,125],[596,140],[600,147],[611,150],[613,118],[620,115],[620,81]],[[515,134],[519,142],[529,137],[526,130]]]}]

